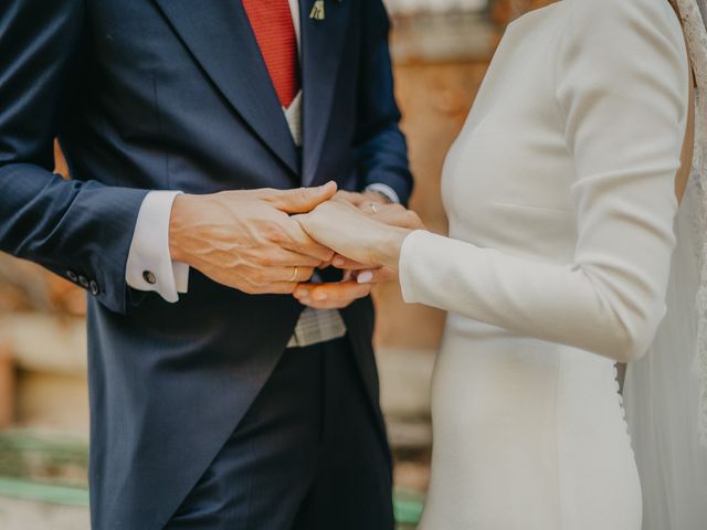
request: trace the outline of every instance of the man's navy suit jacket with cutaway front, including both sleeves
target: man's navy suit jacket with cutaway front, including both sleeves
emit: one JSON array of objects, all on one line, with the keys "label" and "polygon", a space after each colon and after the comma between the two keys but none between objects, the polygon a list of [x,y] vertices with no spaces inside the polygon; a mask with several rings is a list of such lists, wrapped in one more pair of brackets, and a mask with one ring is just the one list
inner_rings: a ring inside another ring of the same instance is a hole
[{"label": "man's navy suit jacket with cutaway front, including both sleeves", "polygon": [[[0,250],[88,299],[96,528],[160,528],[283,353],[303,307],[196,271],[178,304],[125,266],[155,189],[316,186],[411,191],[380,0],[300,1],[299,151],[239,0],[4,0]],[[59,137],[72,180],[53,174]],[[342,311],[377,407],[369,299]],[[381,436],[382,423],[381,423]]]}]

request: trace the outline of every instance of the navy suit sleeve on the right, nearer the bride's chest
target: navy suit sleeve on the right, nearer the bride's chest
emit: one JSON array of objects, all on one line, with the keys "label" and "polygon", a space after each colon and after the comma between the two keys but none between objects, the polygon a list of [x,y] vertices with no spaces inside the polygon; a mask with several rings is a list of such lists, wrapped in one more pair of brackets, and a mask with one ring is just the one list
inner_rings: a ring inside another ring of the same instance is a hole
[{"label": "navy suit sleeve on the right, nearer the bride's chest", "polygon": [[398,126],[388,46],[390,21],[380,0],[361,0],[361,75],[356,147],[361,189],[386,184],[407,204],[412,192],[405,138]]}]

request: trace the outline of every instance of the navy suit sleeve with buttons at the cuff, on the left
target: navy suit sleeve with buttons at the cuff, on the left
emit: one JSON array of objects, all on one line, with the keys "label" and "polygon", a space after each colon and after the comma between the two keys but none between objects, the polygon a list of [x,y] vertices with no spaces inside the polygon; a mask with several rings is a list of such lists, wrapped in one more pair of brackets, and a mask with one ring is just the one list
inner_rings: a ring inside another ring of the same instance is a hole
[{"label": "navy suit sleeve with buttons at the cuff, on the left", "polygon": [[120,312],[147,191],[53,173],[52,144],[83,45],[84,3],[7,0],[0,9],[0,251],[67,277]]}]

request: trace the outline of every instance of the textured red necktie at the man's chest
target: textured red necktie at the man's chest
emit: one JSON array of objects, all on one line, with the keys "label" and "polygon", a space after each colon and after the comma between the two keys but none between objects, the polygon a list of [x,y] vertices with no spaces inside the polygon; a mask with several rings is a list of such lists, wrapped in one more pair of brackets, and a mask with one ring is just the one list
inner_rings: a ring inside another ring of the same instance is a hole
[{"label": "textured red necktie at the man's chest", "polygon": [[279,104],[288,108],[299,92],[297,40],[288,0],[243,0]]}]

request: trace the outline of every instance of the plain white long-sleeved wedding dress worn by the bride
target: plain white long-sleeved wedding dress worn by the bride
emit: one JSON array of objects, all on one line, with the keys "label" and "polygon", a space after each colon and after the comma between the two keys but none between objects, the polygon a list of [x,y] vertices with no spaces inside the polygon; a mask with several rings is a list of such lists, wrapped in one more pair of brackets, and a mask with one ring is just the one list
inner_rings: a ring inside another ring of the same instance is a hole
[{"label": "plain white long-sleeved wedding dress worn by the bride", "polygon": [[665,314],[688,65],[666,0],[564,0],[507,30],[447,156],[450,237],[405,300],[450,311],[424,530],[639,530],[612,358]]}]

